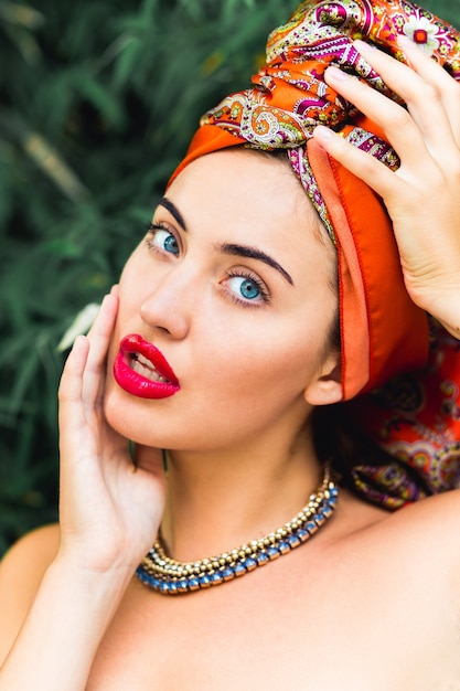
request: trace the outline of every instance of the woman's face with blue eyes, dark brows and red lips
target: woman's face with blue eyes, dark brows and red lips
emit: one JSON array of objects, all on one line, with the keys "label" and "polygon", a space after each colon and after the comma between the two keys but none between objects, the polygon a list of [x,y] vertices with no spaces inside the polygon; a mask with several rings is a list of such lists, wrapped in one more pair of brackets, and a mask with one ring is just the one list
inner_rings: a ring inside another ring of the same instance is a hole
[{"label": "woman's face with blue eyes, dark brows and red lips", "polygon": [[149,446],[216,449],[296,429],[311,404],[339,400],[334,249],[321,233],[277,159],[224,150],[185,168],[120,278],[109,423]]}]

